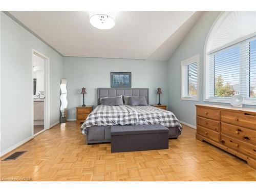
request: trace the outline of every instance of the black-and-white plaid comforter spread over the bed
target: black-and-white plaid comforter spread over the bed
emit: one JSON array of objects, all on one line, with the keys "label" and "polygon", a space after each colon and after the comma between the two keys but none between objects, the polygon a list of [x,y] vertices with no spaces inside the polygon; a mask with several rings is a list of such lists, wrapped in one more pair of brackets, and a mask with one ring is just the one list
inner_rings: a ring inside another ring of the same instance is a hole
[{"label": "black-and-white plaid comforter spread over the bed", "polygon": [[90,126],[162,124],[166,127],[182,127],[172,112],[154,106],[98,105],[81,126],[82,134],[87,134]]}]

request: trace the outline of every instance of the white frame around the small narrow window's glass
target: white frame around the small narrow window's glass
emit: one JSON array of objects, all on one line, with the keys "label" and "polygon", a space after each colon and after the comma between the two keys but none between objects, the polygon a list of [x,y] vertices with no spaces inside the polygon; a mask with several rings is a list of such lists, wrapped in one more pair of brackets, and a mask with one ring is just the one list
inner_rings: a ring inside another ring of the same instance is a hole
[{"label": "white frame around the small narrow window's glass", "polygon": [[[195,55],[193,57],[190,57],[186,60],[181,61],[181,93],[180,93],[180,99],[181,100],[189,100],[189,101],[199,101],[199,92],[200,92],[200,86],[199,86],[199,65],[200,65],[200,59],[199,54]],[[197,63],[197,97],[183,97],[183,66],[188,66],[193,63]]]}]

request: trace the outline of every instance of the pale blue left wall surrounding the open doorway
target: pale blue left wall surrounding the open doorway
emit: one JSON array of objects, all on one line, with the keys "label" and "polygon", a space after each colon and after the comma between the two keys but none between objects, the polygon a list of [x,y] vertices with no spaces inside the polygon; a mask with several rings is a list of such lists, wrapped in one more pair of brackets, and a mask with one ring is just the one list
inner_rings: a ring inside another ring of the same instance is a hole
[{"label": "pale blue left wall surrounding the open doorway", "polygon": [[50,58],[50,124],[59,120],[62,56],[1,14],[1,154],[32,137],[32,49]]}]

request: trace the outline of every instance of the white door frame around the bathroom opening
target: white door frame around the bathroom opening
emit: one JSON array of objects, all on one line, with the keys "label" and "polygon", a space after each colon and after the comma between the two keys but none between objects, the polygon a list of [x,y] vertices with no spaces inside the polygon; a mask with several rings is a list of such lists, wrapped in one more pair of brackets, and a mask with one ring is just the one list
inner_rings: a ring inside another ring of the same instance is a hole
[{"label": "white door frame around the bathroom opening", "polygon": [[[33,80],[33,64],[34,64],[34,55],[45,59],[44,66],[44,81],[45,81],[45,102],[44,102],[44,130],[34,134],[34,80]],[[36,135],[50,129],[50,58],[46,55],[40,53],[39,51],[32,49],[32,135]]]}]

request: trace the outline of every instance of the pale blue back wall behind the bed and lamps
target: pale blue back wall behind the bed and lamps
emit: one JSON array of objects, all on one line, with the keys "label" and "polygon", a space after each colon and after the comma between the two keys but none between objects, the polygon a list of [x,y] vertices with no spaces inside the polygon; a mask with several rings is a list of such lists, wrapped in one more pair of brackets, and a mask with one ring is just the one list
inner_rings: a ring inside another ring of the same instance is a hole
[{"label": "pale blue back wall behind the bed and lamps", "polygon": [[97,88],[110,88],[110,72],[132,72],[132,88],[149,88],[150,103],[157,103],[157,88],[162,88],[161,103],[167,104],[167,62],[135,59],[63,57],[63,78],[67,79],[68,119],[82,104],[81,88],[85,87],[86,105],[97,105]]}]

